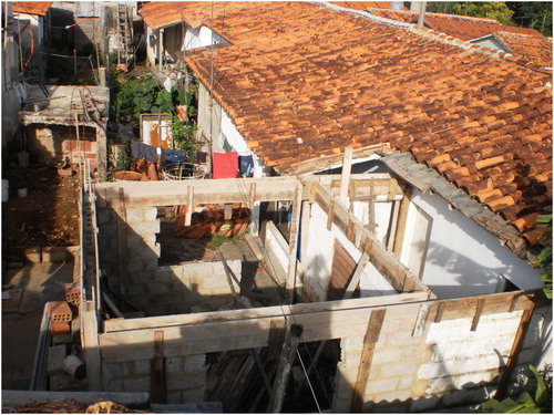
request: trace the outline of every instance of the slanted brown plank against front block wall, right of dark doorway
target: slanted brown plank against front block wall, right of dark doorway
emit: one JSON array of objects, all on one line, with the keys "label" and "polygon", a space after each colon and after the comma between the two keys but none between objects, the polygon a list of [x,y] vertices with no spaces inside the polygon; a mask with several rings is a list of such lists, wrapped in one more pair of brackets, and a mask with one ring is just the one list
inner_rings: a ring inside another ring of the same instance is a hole
[{"label": "slanted brown plank against front block wall, right of dark doorway", "polygon": [[366,398],[366,387],[368,384],[369,371],[373,361],[376,343],[379,341],[379,335],[381,333],[381,328],[386,314],[386,309],[379,309],[371,311],[371,314],[369,317],[368,330],[366,332],[366,336],[363,338],[363,349],[361,351],[360,367],[358,369],[358,376],[356,378],[356,385],[352,391],[351,412],[358,413],[362,409]]}]

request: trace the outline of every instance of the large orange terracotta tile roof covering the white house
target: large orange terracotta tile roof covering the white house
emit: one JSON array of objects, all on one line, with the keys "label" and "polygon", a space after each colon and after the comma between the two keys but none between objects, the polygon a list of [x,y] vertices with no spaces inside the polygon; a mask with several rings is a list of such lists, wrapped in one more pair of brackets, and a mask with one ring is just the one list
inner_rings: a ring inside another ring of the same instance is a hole
[{"label": "large orange terracotta tile roof covering the white house", "polygon": [[[214,94],[267,166],[389,144],[519,229],[552,210],[551,73],[322,4],[240,4],[215,2]],[[187,63],[209,85],[209,51]]]}]

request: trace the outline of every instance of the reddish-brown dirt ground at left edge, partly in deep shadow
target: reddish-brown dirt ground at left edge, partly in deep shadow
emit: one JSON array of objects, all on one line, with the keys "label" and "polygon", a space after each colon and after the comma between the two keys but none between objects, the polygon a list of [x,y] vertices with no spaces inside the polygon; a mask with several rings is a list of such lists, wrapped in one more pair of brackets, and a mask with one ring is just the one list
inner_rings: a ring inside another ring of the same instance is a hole
[{"label": "reddish-brown dirt ground at left edge, partly in deep shadow", "polygon": [[[54,165],[4,168],[9,200],[2,203],[2,260],[22,261],[32,247],[79,245],[79,176],[60,176]],[[27,184],[27,197],[18,196]]]}]

